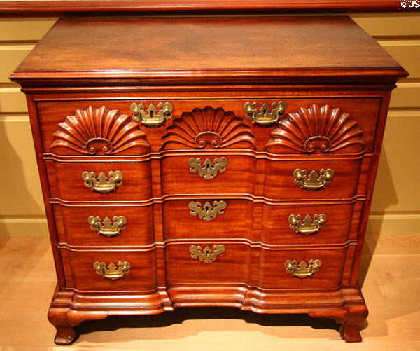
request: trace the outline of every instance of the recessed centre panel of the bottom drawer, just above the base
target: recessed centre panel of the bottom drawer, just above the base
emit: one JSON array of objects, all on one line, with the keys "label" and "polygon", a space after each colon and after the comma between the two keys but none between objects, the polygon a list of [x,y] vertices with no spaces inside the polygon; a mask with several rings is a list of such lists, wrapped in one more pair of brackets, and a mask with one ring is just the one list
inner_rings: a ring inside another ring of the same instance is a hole
[{"label": "recessed centre panel of the bottom drawer, just above the base", "polygon": [[167,285],[248,282],[251,267],[251,248],[248,245],[224,243],[224,251],[216,251],[216,258],[211,263],[206,263],[205,259],[202,261],[200,256],[193,259],[194,254],[190,251],[192,245],[196,248],[200,246],[200,252],[204,252],[208,246],[213,254],[221,243],[189,242],[165,247]]}]

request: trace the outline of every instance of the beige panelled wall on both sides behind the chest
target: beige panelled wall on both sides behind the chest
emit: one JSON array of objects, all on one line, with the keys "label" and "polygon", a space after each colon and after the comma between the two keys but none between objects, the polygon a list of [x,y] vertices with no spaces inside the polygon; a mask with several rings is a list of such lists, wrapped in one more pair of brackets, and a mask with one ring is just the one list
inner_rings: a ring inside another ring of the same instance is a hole
[{"label": "beige panelled wall on both sides behind the chest", "polygon": [[[368,233],[420,233],[420,14],[352,17],[410,74],[391,98]],[[54,22],[0,19],[0,237],[48,235],[25,95],[8,75]]]}]

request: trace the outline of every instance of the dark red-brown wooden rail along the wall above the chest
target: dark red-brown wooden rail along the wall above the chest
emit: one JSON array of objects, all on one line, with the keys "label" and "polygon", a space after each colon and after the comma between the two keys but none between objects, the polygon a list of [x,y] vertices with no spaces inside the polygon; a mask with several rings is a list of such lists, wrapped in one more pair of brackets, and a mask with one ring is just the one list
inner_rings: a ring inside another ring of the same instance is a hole
[{"label": "dark red-brown wooden rail along the wall above the chest", "polygon": [[144,15],[144,13],[317,13],[401,11],[400,2],[387,0],[285,1],[266,0],[125,0],[125,1],[3,1],[2,16]]}]

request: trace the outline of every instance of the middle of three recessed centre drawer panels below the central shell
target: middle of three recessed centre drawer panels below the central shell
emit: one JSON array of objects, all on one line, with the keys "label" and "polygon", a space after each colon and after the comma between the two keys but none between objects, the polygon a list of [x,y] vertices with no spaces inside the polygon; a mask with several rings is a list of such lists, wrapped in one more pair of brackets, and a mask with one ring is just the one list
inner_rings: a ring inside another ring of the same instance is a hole
[{"label": "middle of three recessed centre drawer panels below the central shell", "polygon": [[[169,200],[163,204],[164,240],[180,238],[247,238],[251,239],[253,202],[248,200],[223,200],[225,207],[220,212],[214,209],[214,200]],[[190,203],[201,203],[190,209]],[[210,211],[207,217],[197,212],[204,209],[209,202]],[[220,203],[220,201],[218,201]],[[191,212],[196,213],[192,215]],[[222,213],[223,212],[223,213]],[[213,219],[211,219],[213,218]]]}]

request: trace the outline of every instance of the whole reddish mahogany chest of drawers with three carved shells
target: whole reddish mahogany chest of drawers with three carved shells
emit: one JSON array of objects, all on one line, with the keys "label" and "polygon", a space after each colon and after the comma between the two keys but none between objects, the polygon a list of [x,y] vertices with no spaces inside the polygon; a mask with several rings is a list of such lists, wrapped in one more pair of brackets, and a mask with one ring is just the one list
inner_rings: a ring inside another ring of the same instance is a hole
[{"label": "whole reddish mahogany chest of drawers with three carved shells", "polygon": [[360,341],[386,113],[407,73],[346,17],[62,19],[27,95],[55,342],[182,306],[308,313]]}]

